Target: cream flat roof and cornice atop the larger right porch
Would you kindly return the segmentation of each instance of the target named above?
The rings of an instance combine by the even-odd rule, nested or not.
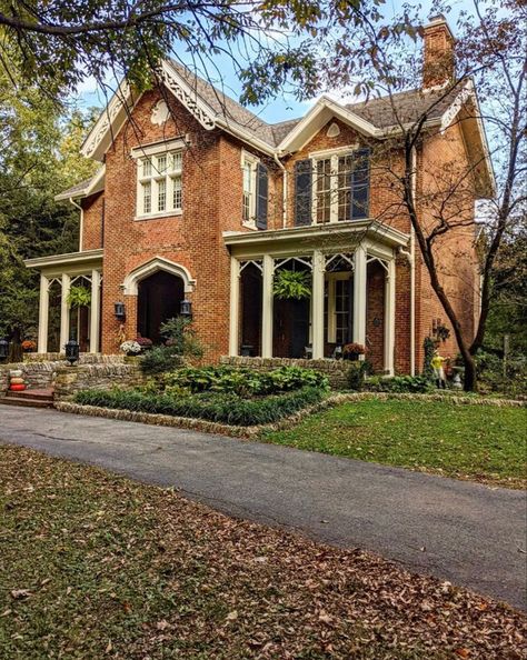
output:
[[[406,248],[410,237],[376,220],[266,231],[225,231],[223,240],[235,257],[300,254],[309,250],[332,252],[355,249],[359,243],[394,250]]]

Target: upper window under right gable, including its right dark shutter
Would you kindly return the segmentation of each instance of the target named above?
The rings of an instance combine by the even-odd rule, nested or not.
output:
[[[345,222],[368,217],[368,149],[314,154],[311,162],[312,222]]]

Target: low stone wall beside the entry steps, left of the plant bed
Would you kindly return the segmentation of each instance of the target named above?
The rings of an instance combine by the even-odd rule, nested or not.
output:
[[[112,387],[128,389],[145,382],[137,363],[60,366],[56,370],[54,399],[64,401],[79,390],[97,388],[109,390]]]

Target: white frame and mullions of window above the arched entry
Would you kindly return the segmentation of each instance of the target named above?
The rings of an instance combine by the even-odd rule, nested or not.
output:
[[[151,218],[167,218],[182,214],[182,177],[183,177],[183,147],[182,140],[172,140],[159,144],[150,144],[143,148],[132,149],[131,156],[137,166],[137,196],[136,196],[136,220],[148,220]],[[179,157],[179,158],[176,158]],[[158,159],[167,159],[163,171],[158,171]],[[143,177],[142,168],[146,161],[151,161],[150,174]],[[165,208],[159,210],[159,188],[165,181]],[[181,203],[175,206],[175,190],[177,183],[181,190]],[[145,213],[145,183],[150,182],[150,211]]]

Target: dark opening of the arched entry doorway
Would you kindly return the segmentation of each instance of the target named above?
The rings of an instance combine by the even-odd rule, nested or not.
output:
[[[165,321],[177,317],[185,299],[183,280],[159,270],[138,282],[137,330],[153,343],[161,343],[159,329]]]

